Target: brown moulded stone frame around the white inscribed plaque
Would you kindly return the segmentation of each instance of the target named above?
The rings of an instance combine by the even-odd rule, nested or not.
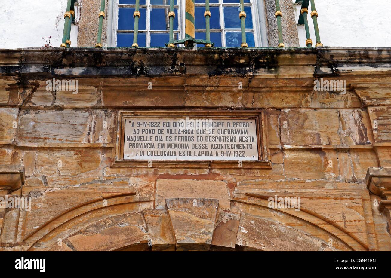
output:
[[[157,119],[254,119],[258,141],[258,160],[125,160],[124,133],[125,120],[129,118]],[[115,147],[112,154],[113,168],[211,168],[211,169],[271,169],[270,154],[267,144],[267,121],[264,110],[119,110],[117,113],[117,128]],[[151,162],[152,161],[152,167]]]

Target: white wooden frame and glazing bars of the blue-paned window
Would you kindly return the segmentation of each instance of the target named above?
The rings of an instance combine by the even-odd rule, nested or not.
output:
[[[250,3],[244,3],[244,6],[251,6],[251,16],[253,18],[253,28],[246,29],[246,32],[253,32],[255,47],[267,47],[266,37],[266,18],[265,18],[265,7],[264,0],[250,0]],[[223,7],[239,7],[239,3],[223,3],[223,0],[219,0],[219,3],[210,3],[210,7],[219,7],[220,16],[220,29],[210,29],[210,32],[221,32],[221,47],[226,47],[226,32],[240,32],[240,28],[225,28],[224,25],[224,13]],[[204,7],[205,4],[195,4],[195,7]],[[118,31],[118,7],[135,7],[134,4],[119,4],[119,0],[109,0],[108,3],[108,14],[112,14],[111,20],[107,21],[106,26],[106,46],[117,46],[117,31]],[[152,5],[150,0],[146,0],[145,5],[140,5],[140,8],[146,8],[146,30],[138,31],[139,33],[146,33],[146,46],[150,47],[151,43],[151,32],[152,33],[169,33],[169,30],[150,30],[150,9]],[[153,5],[153,8],[169,8],[169,5]],[[185,0],[178,0],[178,5],[174,5],[174,8],[178,9],[178,30],[174,30],[174,33],[179,34],[179,39],[185,37]],[[263,12],[262,12],[263,11]],[[213,14],[212,14],[213,17]],[[238,11],[239,17],[239,11]],[[109,19],[109,18],[108,18]],[[256,20],[258,19],[258,20]],[[177,20],[176,18],[174,20]],[[181,23],[181,24],[180,24]],[[262,24],[261,24],[262,23]],[[195,32],[204,32],[205,29],[195,29]],[[120,32],[133,33],[133,30],[120,30]],[[168,41],[167,41],[168,42]],[[239,47],[240,45],[238,45]]]

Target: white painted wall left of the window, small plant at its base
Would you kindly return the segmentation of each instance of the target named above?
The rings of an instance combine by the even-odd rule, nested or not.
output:
[[[42,37],[51,36],[52,46],[61,45],[67,0],[2,1],[0,48],[42,47]],[[79,9],[75,7],[78,21]],[[72,24],[70,40],[77,43],[77,25]]]

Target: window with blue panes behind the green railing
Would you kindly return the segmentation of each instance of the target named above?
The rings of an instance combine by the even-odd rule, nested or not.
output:
[[[262,0],[260,0],[262,1]],[[239,0],[210,0],[210,40],[215,47],[239,47],[242,42]],[[113,0],[111,45],[131,46],[136,0]],[[205,1],[195,0],[195,39],[205,39]],[[165,46],[169,41],[170,0],[140,0],[139,46]],[[257,0],[244,0],[246,42],[249,47],[261,46]],[[174,40],[185,37],[185,0],[174,0]],[[203,45],[199,45],[203,46]]]

